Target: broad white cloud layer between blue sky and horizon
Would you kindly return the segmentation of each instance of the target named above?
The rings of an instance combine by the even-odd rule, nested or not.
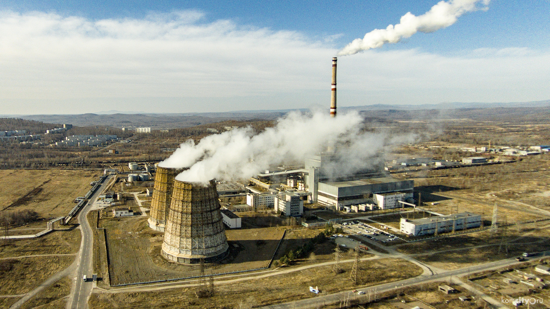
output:
[[[327,105],[333,39],[201,12],[87,20],[0,13],[2,114],[278,109]],[[550,54],[419,50],[340,58],[339,105],[550,98]]]

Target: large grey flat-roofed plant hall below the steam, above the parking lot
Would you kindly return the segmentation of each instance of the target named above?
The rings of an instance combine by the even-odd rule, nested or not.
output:
[[[357,205],[372,200],[373,194],[400,192],[412,198],[414,181],[395,177],[377,177],[352,181],[319,182],[317,199],[326,205]]]

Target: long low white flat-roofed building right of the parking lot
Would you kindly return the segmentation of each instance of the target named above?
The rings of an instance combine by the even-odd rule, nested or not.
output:
[[[421,219],[401,218],[400,231],[412,236],[430,235],[444,232],[460,231],[481,226],[481,216],[471,212],[461,212],[445,216]]]

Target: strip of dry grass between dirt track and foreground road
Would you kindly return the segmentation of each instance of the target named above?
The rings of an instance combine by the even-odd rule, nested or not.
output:
[[[353,263],[343,263],[343,273],[334,274],[331,266],[321,266],[303,271],[216,287],[216,304],[227,308],[265,306],[296,299],[314,297],[310,285],[318,286],[323,293],[334,293],[355,286],[349,280]],[[397,259],[381,259],[360,262],[358,278],[361,285],[375,285],[418,276],[422,269]],[[326,278],[331,278],[327,280]],[[207,299],[197,299],[195,288],[172,289],[148,293],[92,294],[90,308],[209,308]]]

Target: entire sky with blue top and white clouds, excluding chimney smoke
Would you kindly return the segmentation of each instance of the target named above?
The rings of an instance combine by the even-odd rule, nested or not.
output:
[[[436,3],[0,0],[2,114],[324,106],[337,50]],[[550,99],[549,17],[548,0],[493,0],[340,57],[339,105]]]

